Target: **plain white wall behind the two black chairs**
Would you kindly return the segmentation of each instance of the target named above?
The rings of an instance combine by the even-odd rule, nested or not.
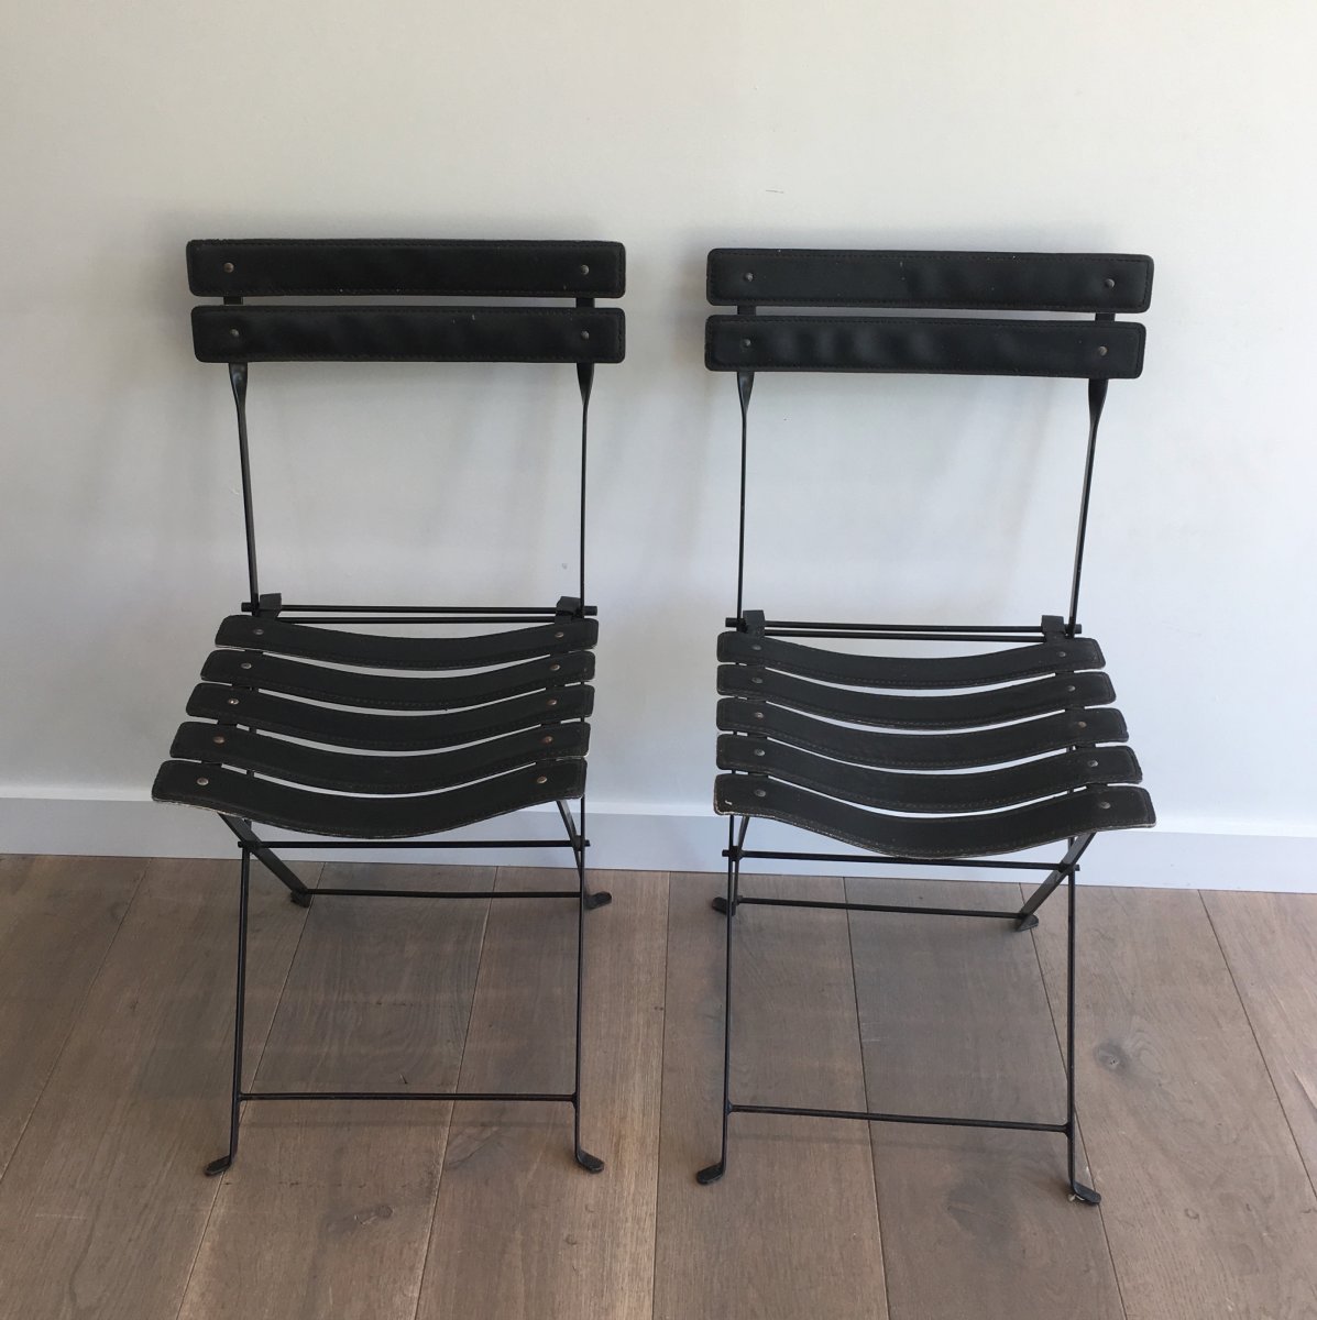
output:
[[[591,791],[673,820],[706,814],[735,573],[707,248],[1152,253],[1147,371],[1111,391],[1082,615],[1169,832],[1317,834],[1314,41],[1317,9],[1280,0],[18,0],[0,53],[0,849],[119,846],[103,821],[145,796],[243,597],[231,405],[191,358],[183,243],[277,235],[627,244],[628,360],[600,371],[593,414]],[[327,389],[253,370],[265,589],[441,601],[482,565],[480,595],[566,589],[571,374],[480,375],[496,409],[450,368],[343,368]],[[765,376],[754,421],[748,603],[1064,609],[1082,384]],[[504,506],[509,467],[537,494]],[[802,490],[818,516],[769,533]],[[509,539],[486,565],[495,507]],[[837,557],[819,591],[812,565]],[[129,850],[182,847],[178,816],[133,808]],[[676,857],[636,851],[619,859]]]

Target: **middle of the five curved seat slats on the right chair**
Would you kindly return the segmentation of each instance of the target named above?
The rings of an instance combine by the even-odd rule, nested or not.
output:
[[[889,770],[975,770],[1087,743],[1126,741],[1124,717],[1111,706],[971,733],[888,734],[724,697],[718,702],[718,727],[724,733],[765,734],[835,760]]]

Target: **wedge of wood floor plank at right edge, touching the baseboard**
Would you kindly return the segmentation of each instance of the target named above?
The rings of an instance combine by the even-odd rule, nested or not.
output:
[[[1317,1184],[1317,894],[1204,894],[1289,1130]]]

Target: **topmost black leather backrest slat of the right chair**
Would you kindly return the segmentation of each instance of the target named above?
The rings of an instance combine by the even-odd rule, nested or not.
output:
[[[1079,252],[714,248],[717,306],[1145,312],[1152,259]]]

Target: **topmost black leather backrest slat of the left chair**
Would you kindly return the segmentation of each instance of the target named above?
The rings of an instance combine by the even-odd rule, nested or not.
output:
[[[619,298],[620,243],[446,239],[194,239],[199,297]]]

